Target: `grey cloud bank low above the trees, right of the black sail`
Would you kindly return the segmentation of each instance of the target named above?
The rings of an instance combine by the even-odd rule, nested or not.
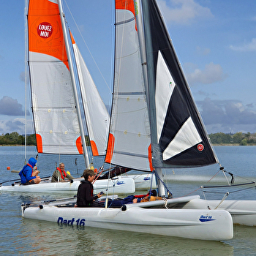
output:
[[[209,133],[256,130],[256,109],[252,104],[243,105],[238,100],[206,98],[198,101],[197,106]]]

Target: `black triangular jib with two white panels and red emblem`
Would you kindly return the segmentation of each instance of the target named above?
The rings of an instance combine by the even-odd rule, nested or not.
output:
[[[153,165],[196,167],[214,164],[218,159],[209,142],[156,1],[142,0],[142,10],[148,75],[146,95],[151,124]],[[165,67],[164,73],[170,73],[170,88],[174,84],[170,99],[165,104],[165,115],[162,115],[161,125],[158,125],[159,105],[156,103],[161,93],[164,94],[164,91],[161,91],[162,85],[157,85],[157,76],[162,76],[162,72],[159,72],[159,63]],[[162,102],[159,102],[161,105]]]

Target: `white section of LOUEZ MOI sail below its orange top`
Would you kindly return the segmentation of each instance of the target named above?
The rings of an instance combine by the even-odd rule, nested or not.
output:
[[[53,56],[29,53],[35,130],[42,153],[79,154],[80,136],[70,73]]]

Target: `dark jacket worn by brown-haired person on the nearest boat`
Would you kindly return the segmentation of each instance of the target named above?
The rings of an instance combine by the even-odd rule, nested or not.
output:
[[[78,207],[92,206],[94,203],[94,200],[97,198],[98,196],[94,195],[94,187],[92,186],[91,182],[81,181],[81,184],[78,187],[78,195],[77,195]]]

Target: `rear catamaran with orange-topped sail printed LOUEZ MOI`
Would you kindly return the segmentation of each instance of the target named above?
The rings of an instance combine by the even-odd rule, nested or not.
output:
[[[27,17],[31,106],[37,151],[39,154],[83,154],[86,167],[89,167],[83,118],[93,156],[104,156],[110,118],[108,110],[75,39],[70,32],[69,44],[69,34],[62,29],[64,23],[61,24],[58,1],[29,1]],[[75,63],[72,63],[71,48]],[[78,70],[78,80],[74,67]],[[83,108],[80,108],[77,84]],[[29,186],[15,182],[0,186],[0,191],[76,193],[80,180],[52,183],[50,178],[45,178],[39,184]],[[132,193],[135,192],[135,181],[131,177],[101,179],[94,183],[94,189],[95,192],[108,191],[108,194]]]

